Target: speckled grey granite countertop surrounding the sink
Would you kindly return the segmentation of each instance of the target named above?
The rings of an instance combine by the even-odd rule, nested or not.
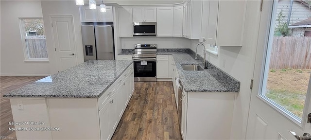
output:
[[[190,54],[173,54],[173,58],[185,91],[239,92],[240,82],[215,66],[208,63],[208,69],[205,70],[183,70],[181,64],[199,64],[202,67],[203,63],[200,59],[195,60]]]

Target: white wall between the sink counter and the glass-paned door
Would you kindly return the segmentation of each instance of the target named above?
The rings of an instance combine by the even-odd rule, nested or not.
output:
[[[231,127],[231,138],[245,139],[250,104],[250,80],[253,77],[255,51],[259,30],[260,0],[247,1],[246,21],[242,47],[218,47],[218,56],[207,53],[207,61],[241,82],[240,92],[235,100]],[[197,40],[191,41],[190,49],[195,51]],[[200,49],[201,50],[201,49]],[[201,52],[200,52],[201,53]],[[225,62],[225,64],[224,64]],[[225,66],[225,67],[224,67]]]

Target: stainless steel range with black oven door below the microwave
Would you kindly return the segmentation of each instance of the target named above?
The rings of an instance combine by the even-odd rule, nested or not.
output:
[[[156,82],[156,44],[135,44],[135,82]]]

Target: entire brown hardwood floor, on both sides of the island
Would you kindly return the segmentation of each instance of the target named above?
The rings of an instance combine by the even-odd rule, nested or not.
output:
[[[10,100],[2,95],[41,78],[0,77],[0,136],[16,140],[15,131],[8,130],[13,121]],[[135,83],[112,140],[182,140],[172,82]]]

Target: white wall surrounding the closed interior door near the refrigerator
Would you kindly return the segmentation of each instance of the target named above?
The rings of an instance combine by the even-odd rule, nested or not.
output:
[[[52,27],[51,27],[51,15],[73,15],[74,30],[75,30],[75,42],[76,42],[76,57],[78,64],[84,62],[83,56],[83,45],[81,35],[81,20],[79,13],[79,6],[75,4],[74,0],[42,0],[42,14],[45,26],[45,34],[47,40],[47,47],[50,57],[50,69],[51,73],[54,74],[56,70],[56,57],[52,39]]]

